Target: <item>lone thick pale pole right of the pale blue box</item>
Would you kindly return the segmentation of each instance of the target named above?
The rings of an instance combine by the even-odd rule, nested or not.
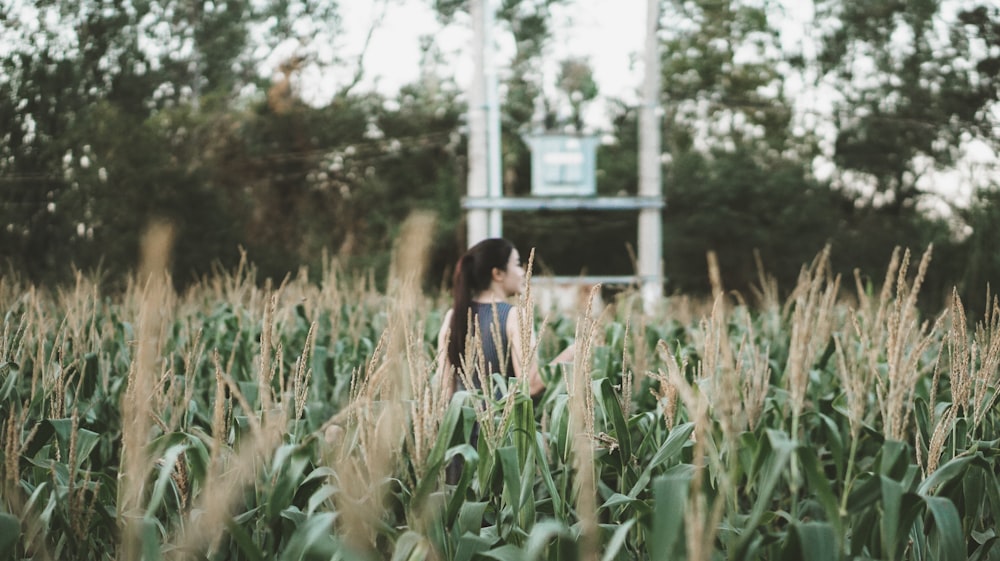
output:
[[[660,2],[646,3],[645,79],[639,111],[639,196],[662,197],[660,174]],[[663,298],[663,223],[661,209],[639,211],[639,280],[646,313]]]

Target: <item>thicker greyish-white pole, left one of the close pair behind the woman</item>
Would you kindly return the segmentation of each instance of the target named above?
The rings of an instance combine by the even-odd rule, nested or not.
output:
[[[469,198],[487,195],[487,140],[485,114],[484,76],[486,61],[484,6],[486,0],[471,0],[473,74],[469,84],[469,177],[466,193]],[[488,215],[484,209],[466,212],[467,240],[469,247],[489,236]]]

